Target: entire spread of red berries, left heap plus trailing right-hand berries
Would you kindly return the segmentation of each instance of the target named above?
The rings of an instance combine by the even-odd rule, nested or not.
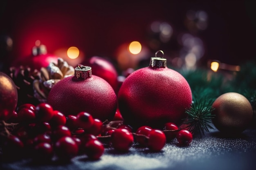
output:
[[[66,117],[47,103],[23,104],[8,122],[16,123],[16,127],[0,142],[3,154],[40,161],[70,160],[83,154],[99,159],[106,147],[126,152],[135,141],[153,152],[162,150],[166,141],[175,137],[181,145],[192,141],[189,131],[179,130],[173,123],[166,123],[163,130],[141,126],[133,132],[123,124],[118,110],[112,121],[102,122],[86,112]]]

